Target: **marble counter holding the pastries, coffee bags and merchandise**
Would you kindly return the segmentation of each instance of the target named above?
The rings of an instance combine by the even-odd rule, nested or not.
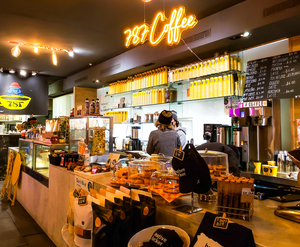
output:
[[[61,229],[67,221],[69,205],[69,190],[75,189],[74,176],[80,176],[94,183],[94,189],[106,188],[112,174],[100,176],[87,176],[67,171],[66,168],[50,165],[49,188],[39,183],[27,174],[22,173],[17,199],[29,214],[37,221],[45,233],[58,247],[67,244],[61,235]],[[30,181],[29,181],[30,180]],[[156,224],[169,224],[185,230],[191,238],[196,233],[205,212],[216,210],[216,203],[200,202],[194,196],[194,206],[203,208],[202,211],[186,215],[172,210],[176,206],[191,203],[191,196],[177,198],[173,203],[167,203],[160,196],[153,196],[156,201]],[[285,203],[295,206],[299,202]],[[175,205],[177,204],[177,205]],[[280,218],[274,214],[275,209],[267,206],[277,206],[278,202],[272,200],[254,200],[254,212],[251,222],[232,220],[238,224],[252,229],[254,240],[260,247],[299,246],[299,223]]]

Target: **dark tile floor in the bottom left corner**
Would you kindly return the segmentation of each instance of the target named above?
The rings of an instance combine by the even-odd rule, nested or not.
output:
[[[0,190],[4,181],[0,181]],[[6,194],[7,196],[7,194]],[[15,200],[0,199],[0,247],[55,247],[35,220]]]

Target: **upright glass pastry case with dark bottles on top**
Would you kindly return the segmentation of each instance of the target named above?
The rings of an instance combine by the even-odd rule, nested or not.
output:
[[[81,141],[88,145],[88,150],[91,153],[90,163],[106,162],[109,153],[113,152],[113,117],[71,117],[69,124],[70,152],[78,152],[78,142]],[[100,153],[95,153],[93,150],[94,137],[97,136],[97,132],[102,135],[101,141],[103,141],[103,144],[100,144],[100,146],[102,146]],[[99,145],[99,143],[97,145]]]

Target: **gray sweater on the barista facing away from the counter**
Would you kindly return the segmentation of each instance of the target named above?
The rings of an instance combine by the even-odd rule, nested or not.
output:
[[[148,140],[147,153],[149,155],[162,153],[172,157],[174,149],[180,148],[180,138],[175,130],[151,131]]]

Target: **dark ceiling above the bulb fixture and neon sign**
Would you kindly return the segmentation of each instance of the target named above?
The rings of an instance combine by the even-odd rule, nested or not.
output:
[[[242,0],[152,0],[145,3],[146,23],[165,10],[170,16],[174,8],[184,6],[186,14],[198,20],[229,8]],[[126,52],[124,31],[143,23],[142,0],[65,0],[2,1],[0,14],[0,68],[25,69],[41,74],[68,77]],[[51,51],[20,46],[21,54],[13,57],[10,50],[18,41],[29,44],[74,50],[74,56],[56,52],[54,66]],[[89,63],[92,65],[90,66]],[[50,82],[49,82],[50,83]]]

